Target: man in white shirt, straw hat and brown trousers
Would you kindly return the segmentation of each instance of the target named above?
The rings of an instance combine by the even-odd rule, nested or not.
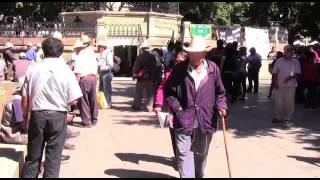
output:
[[[91,39],[83,35],[80,39],[86,47],[76,57],[74,73],[82,90],[80,116],[84,127],[91,128],[98,121],[97,78],[98,61],[91,44]]]

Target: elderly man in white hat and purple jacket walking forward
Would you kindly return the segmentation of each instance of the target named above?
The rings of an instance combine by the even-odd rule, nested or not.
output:
[[[226,91],[217,65],[204,59],[205,40],[194,37],[185,50],[189,58],[172,70],[165,96],[174,117],[180,177],[202,178],[217,115],[227,114]]]

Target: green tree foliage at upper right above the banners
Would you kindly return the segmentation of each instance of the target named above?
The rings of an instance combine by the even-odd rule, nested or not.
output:
[[[205,7],[205,8],[203,8]],[[278,21],[291,34],[320,38],[320,2],[182,2],[183,20],[268,27]]]

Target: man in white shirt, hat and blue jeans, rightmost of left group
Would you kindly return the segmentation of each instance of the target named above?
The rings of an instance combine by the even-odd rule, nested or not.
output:
[[[113,67],[113,50],[110,45],[105,41],[100,41],[98,43],[98,52],[99,52],[99,90],[104,92],[104,96],[107,102],[107,109],[111,108],[111,94],[112,86],[111,81],[113,78],[112,67]]]

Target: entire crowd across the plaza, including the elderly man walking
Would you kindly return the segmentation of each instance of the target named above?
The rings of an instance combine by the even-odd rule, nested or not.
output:
[[[82,126],[93,128],[99,122],[99,91],[103,92],[105,108],[112,108],[113,73],[121,62],[112,45],[98,41],[96,54],[92,39],[82,35],[74,44],[71,59],[65,61],[61,38],[61,34],[47,38],[37,49],[28,43],[19,58],[13,55],[11,43],[3,52],[3,78],[21,82],[22,87],[4,109],[0,135],[8,143],[28,144],[22,177],[37,177],[43,159],[43,176],[58,177],[62,149],[74,149],[65,140],[79,135],[67,126],[73,123],[75,110],[79,110]],[[303,99],[308,109],[316,107],[319,49],[318,45],[287,45],[283,52],[272,49],[269,53],[269,97],[275,92],[273,123],[291,120],[295,98]],[[132,68],[136,80],[132,109],[167,112],[180,177],[205,176],[218,117],[227,116],[228,103],[244,101],[247,93],[259,92],[261,66],[255,47],[250,47],[247,55],[247,47],[238,47],[237,42],[224,46],[218,40],[217,47],[207,49],[202,37],[194,37],[190,43],[169,41],[167,46],[152,50],[147,40],[140,46]],[[144,90],[147,102],[142,107]]]

